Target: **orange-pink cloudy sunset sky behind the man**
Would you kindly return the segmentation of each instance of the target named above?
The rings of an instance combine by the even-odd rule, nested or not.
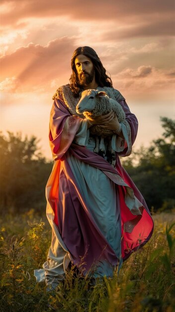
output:
[[[175,1],[1,0],[0,130],[35,135],[43,154],[56,89],[91,46],[139,120],[135,148],[175,119]]]

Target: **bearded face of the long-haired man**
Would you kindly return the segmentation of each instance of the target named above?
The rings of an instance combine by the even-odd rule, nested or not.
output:
[[[75,59],[75,65],[78,73],[79,84],[81,86],[88,86],[95,76],[91,59],[83,54],[80,54]]]

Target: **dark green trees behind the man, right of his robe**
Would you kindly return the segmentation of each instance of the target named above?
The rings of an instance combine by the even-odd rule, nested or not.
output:
[[[154,211],[175,208],[175,121],[161,118],[163,138],[133,152],[122,162],[148,206]],[[137,164],[135,165],[135,161]]]

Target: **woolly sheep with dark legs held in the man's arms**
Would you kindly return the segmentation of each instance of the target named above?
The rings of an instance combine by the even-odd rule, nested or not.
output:
[[[94,89],[83,91],[81,99],[76,106],[76,112],[78,114],[83,114],[87,120],[89,119],[89,121],[92,116],[106,115],[111,111],[116,114],[119,122],[125,121],[125,113],[121,105],[117,101],[110,99],[106,92]],[[99,153],[98,136],[101,137],[103,146],[104,138],[110,136],[108,153],[111,154],[112,159],[114,160],[115,152],[111,151],[111,136],[114,135],[113,131],[101,128],[99,125],[95,125],[90,128],[90,133],[96,136],[96,146],[94,152],[97,154]],[[101,150],[100,152],[104,155],[104,150]]]

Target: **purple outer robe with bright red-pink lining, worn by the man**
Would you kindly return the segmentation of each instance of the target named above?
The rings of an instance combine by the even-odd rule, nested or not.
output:
[[[137,119],[124,100],[119,103],[130,125],[133,144],[138,130]],[[117,154],[115,168],[112,167],[101,156],[73,142],[81,120],[80,117],[70,114],[63,100],[55,99],[51,110],[49,133],[55,163],[46,186],[46,197],[49,207],[47,216],[53,231],[55,228],[58,229],[64,247],[66,246],[68,250],[69,259],[74,264],[79,265],[81,257],[85,257],[83,268],[87,272],[94,259],[105,259],[113,266],[118,264],[119,259],[89,213],[86,199],[82,197],[67,161],[67,151],[80,161],[98,168],[115,183],[115,196],[121,214],[123,260],[148,242],[153,233],[153,220],[143,196],[121,166],[118,154],[125,156],[127,146]]]

